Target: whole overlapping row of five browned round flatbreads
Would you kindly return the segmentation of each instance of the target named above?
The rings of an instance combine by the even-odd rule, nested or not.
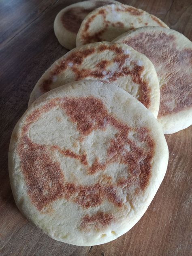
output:
[[[164,134],[192,124],[192,43],[113,0],[66,7],[54,31],[70,51],[38,80],[13,130],[11,188],[53,239],[107,243],[154,198],[168,163]]]

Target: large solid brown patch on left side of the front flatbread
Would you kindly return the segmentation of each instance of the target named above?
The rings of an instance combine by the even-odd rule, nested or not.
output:
[[[35,207],[41,210],[61,198],[64,193],[64,175],[60,164],[51,161],[46,147],[32,143],[24,135],[18,151],[28,194]]]

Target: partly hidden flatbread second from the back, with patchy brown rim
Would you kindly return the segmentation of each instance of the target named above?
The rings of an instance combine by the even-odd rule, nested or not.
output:
[[[156,16],[126,4],[102,6],[85,17],[77,33],[76,45],[111,42],[128,30],[144,26],[169,28]]]

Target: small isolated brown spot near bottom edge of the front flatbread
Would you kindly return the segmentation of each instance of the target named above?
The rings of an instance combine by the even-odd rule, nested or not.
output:
[[[113,220],[111,213],[103,213],[98,211],[94,215],[85,215],[82,219],[80,228],[83,230],[90,230],[92,226],[95,230],[101,230],[105,226],[109,226]]]

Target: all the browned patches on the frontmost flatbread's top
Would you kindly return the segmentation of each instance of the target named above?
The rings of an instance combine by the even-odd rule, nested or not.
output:
[[[87,162],[86,152],[76,154],[72,150],[61,149],[58,145],[52,145],[51,149],[48,149],[46,145],[32,142],[28,137],[30,127],[43,113],[54,107],[63,109],[70,121],[77,125],[77,130],[81,134],[81,141],[86,139],[86,136],[93,130],[105,130],[107,125],[111,125],[117,130],[116,137],[110,141],[107,150],[108,157],[105,162],[101,163],[96,158],[90,166]],[[147,147],[139,148],[133,140],[129,139],[130,131],[137,132],[138,139],[147,143]],[[130,151],[126,149],[126,145],[130,146]],[[55,98],[40,109],[34,110],[26,118],[17,151],[21,159],[21,170],[30,200],[39,211],[45,211],[45,207],[60,198],[77,203],[83,208],[96,207],[105,200],[118,208],[123,207],[124,203],[118,195],[117,188],[120,187],[125,193],[128,193],[127,188],[132,184],[136,186],[135,194],[145,190],[151,177],[151,160],[154,156],[154,148],[154,140],[147,128],[142,127],[136,130],[130,128],[109,114],[102,100],[89,96]],[[78,185],[75,182],[69,183],[65,180],[60,163],[52,160],[52,151],[58,151],[64,157],[75,158],[84,166],[87,175],[103,172],[109,164],[121,162],[128,166],[131,177],[129,179],[121,177],[116,183],[112,183],[110,177],[103,175],[102,183],[98,182],[90,186]],[[108,218],[107,214],[99,212],[93,216],[85,215],[81,228],[84,229],[87,224],[92,222],[95,223],[96,229],[109,224],[113,217],[110,215]]]

